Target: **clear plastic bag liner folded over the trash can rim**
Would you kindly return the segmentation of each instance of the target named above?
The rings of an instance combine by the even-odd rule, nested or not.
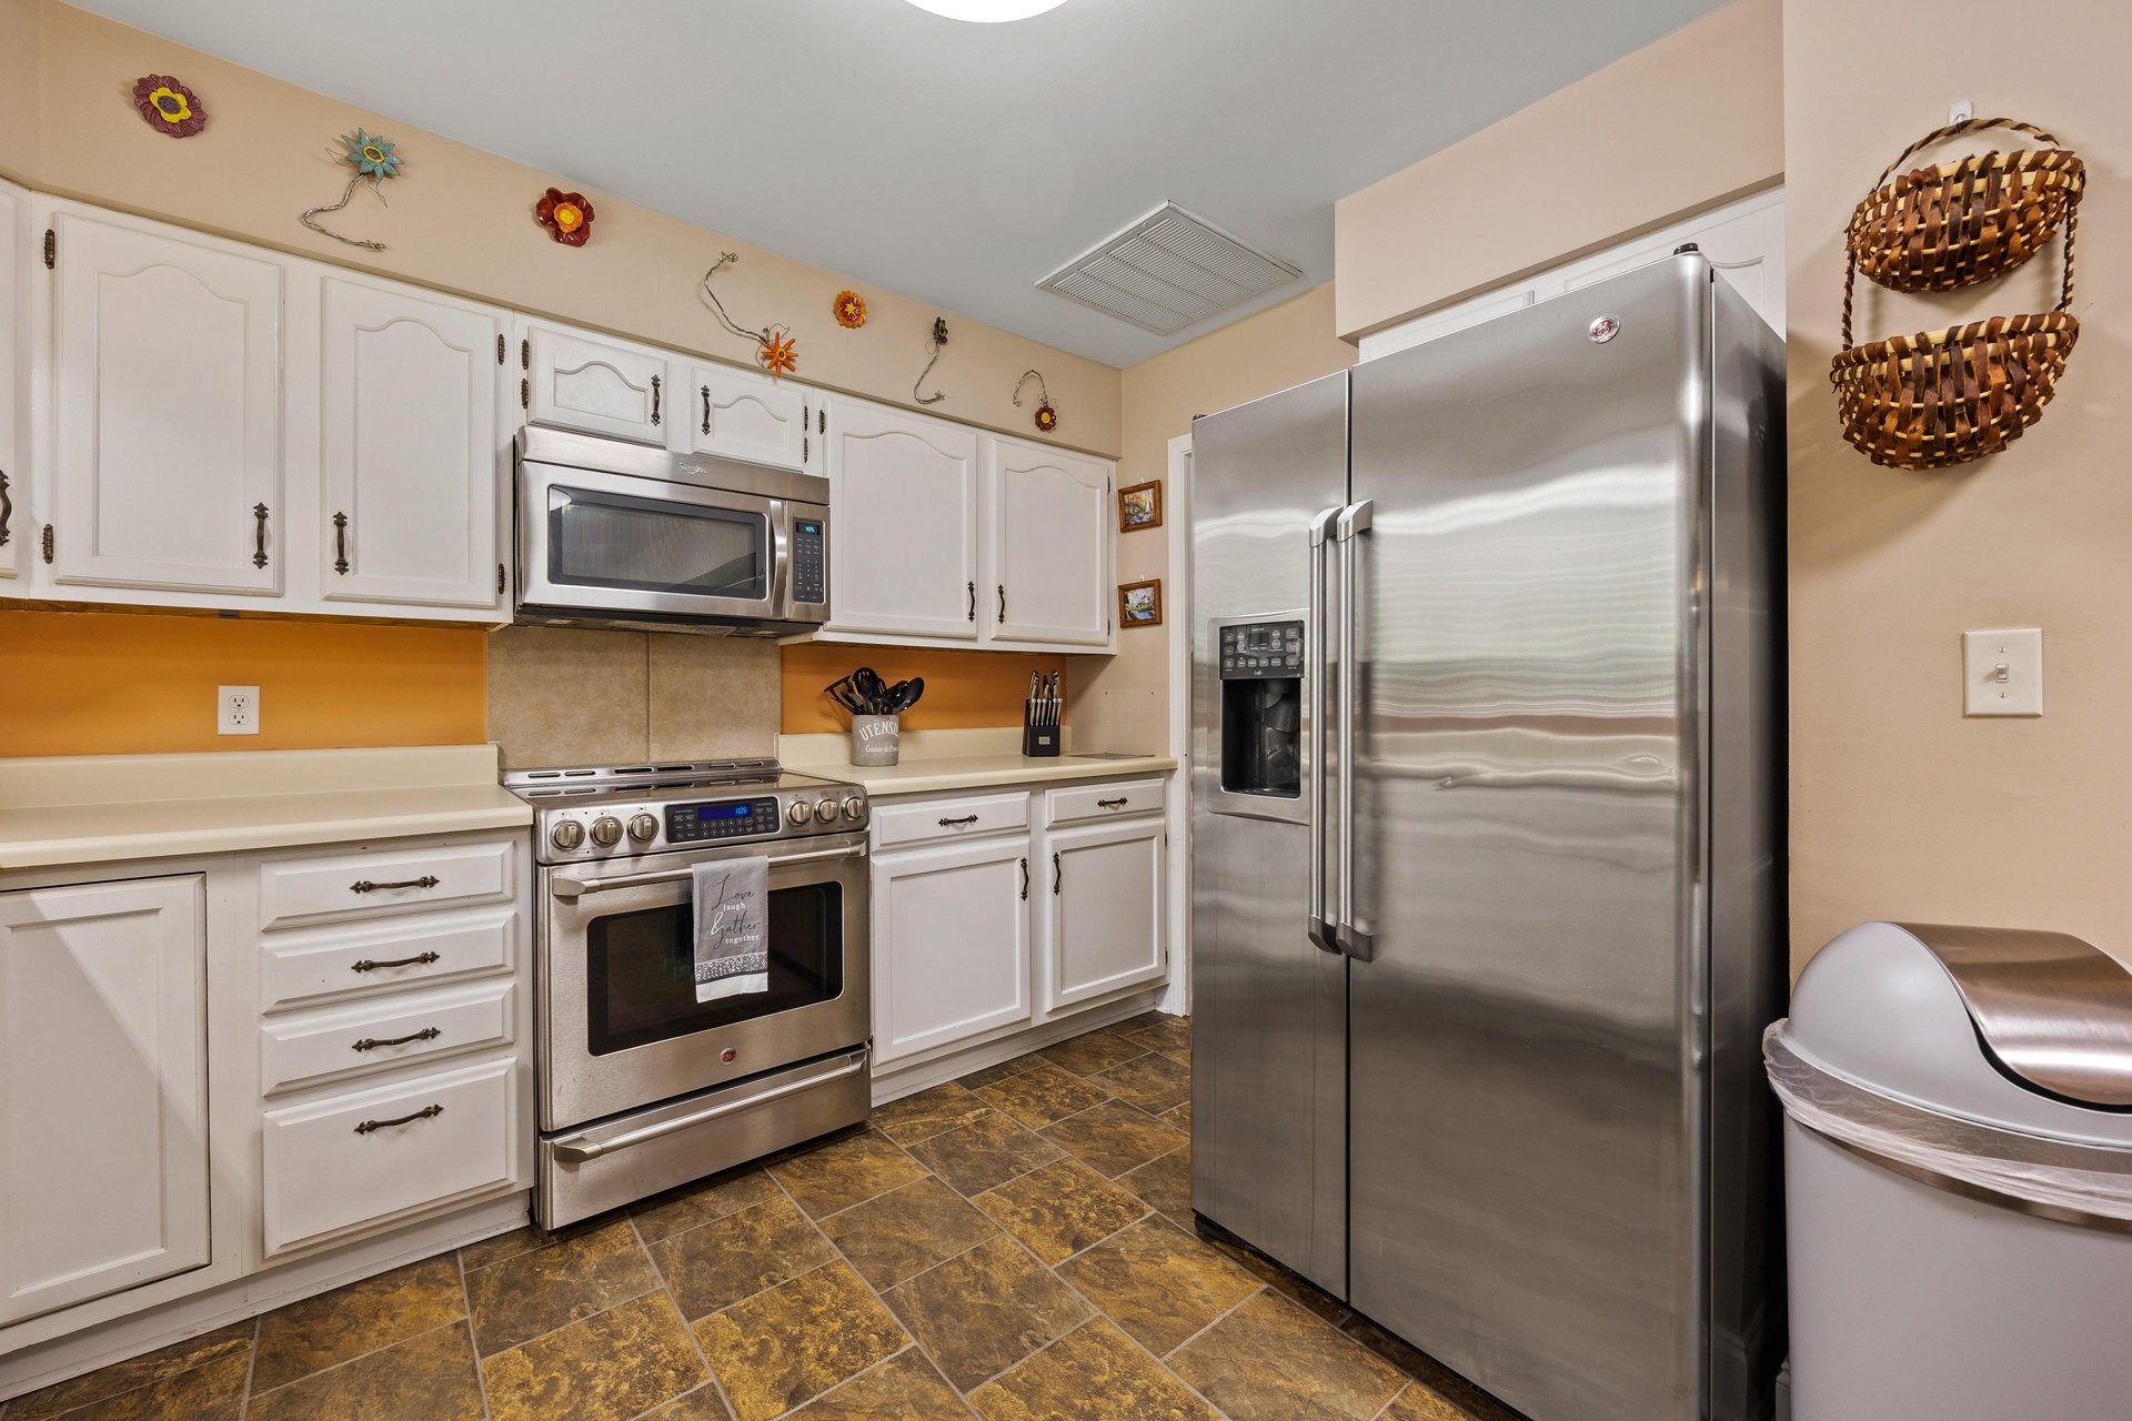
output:
[[[1802,1055],[1772,1023],[1770,1087],[1793,1121],[1929,1185],[2132,1229],[2132,1148],[2051,1140],[1891,1099]]]

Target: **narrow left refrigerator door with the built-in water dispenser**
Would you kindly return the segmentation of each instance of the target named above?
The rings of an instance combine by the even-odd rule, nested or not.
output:
[[[1192,428],[1192,1206],[1332,1293],[1347,965],[1307,935],[1309,797],[1222,790],[1217,626],[1309,607],[1309,526],[1345,492],[1345,375]],[[1305,709],[1305,786],[1313,726]]]

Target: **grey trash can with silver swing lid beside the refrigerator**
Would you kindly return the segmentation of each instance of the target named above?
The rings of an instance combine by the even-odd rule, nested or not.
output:
[[[1793,1421],[2132,1417],[2132,971],[1868,922],[1763,1038]]]

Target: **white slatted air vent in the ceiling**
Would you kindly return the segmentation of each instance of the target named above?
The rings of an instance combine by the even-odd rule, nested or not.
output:
[[[1164,202],[1036,285],[1141,330],[1175,334],[1301,275],[1205,217]]]

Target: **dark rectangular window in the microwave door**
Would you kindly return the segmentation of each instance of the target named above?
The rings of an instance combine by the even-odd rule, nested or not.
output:
[[[591,488],[550,488],[548,582],[765,601],[770,518]]]

